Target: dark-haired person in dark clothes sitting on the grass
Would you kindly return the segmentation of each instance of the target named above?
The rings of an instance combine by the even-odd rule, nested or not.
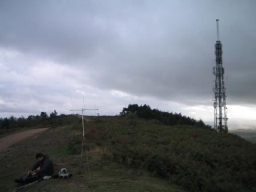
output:
[[[35,155],[35,158],[37,159],[37,163],[27,172],[27,175],[22,175],[20,179],[15,179],[15,182],[33,182],[45,176],[53,175],[54,166],[48,155],[38,153]]]

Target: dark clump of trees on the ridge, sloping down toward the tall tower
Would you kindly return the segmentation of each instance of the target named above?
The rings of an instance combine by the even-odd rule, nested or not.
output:
[[[194,118],[186,117],[181,113],[169,113],[158,109],[151,109],[149,105],[139,106],[138,104],[129,104],[128,107],[123,108],[120,115],[129,114],[137,115],[137,117],[143,119],[157,119],[165,125],[194,125],[211,128],[211,126],[206,125],[202,119],[197,121]]]

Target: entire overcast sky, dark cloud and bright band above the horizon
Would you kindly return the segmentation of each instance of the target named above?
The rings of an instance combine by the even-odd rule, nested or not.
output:
[[[253,0],[0,0],[0,117],[69,113],[71,96],[79,108],[84,96],[99,114],[147,103],[211,121],[218,18],[229,122],[254,123],[255,7]]]

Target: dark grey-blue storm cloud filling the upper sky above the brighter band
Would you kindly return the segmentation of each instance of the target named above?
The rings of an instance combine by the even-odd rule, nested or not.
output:
[[[256,104],[255,5],[1,1],[0,47],[77,67],[99,89],[209,105],[219,18],[227,101]]]

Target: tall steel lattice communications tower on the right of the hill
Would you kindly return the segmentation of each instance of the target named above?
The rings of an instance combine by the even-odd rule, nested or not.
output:
[[[226,88],[224,86],[224,68],[222,66],[222,44],[219,41],[219,19],[217,23],[217,41],[215,43],[215,63],[213,74],[215,75],[214,91],[214,129],[219,132],[227,133],[227,107],[226,107]]]

